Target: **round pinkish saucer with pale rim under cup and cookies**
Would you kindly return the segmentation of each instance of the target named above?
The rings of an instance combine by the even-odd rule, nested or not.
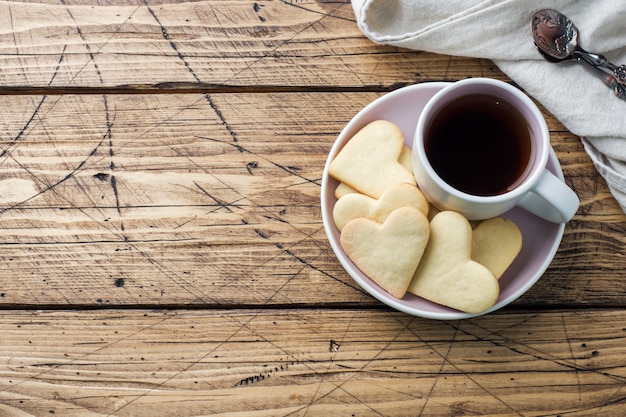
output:
[[[407,293],[402,299],[390,295],[370,278],[363,274],[348,258],[339,243],[339,230],[333,221],[333,207],[337,201],[335,188],[338,182],[328,174],[328,167],[346,142],[361,128],[374,120],[384,119],[395,123],[404,134],[404,143],[411,148],[413,134],[420,112],[432,96],[448,83],[432,82],[403,87],[386,94],[363,108],[345,126],[333,144],[322,177],[322,220],[331,247],[348,274],[370,295],[379,301],[415,316],[452,320],[475,317],[480,314],[467,314],[444,307],[413,294]],[[563,172],[554,151],[551,150],[547,168],[563,180]],[[481,314],[498,310],[524,294],[543,275],[550,265],[561,243],[565,224],[555,224],[536,217],[521,208],[514,208],[505,213],[514,221],[522,232],[522,249],[500,278],[500,297],[496,304]]]

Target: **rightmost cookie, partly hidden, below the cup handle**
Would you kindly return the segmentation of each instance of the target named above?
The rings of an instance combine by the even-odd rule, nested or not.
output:
[[[472,232],[472,259],[485,265],[498,279],[521,249],[522,233],[511,220],[485,220]]]

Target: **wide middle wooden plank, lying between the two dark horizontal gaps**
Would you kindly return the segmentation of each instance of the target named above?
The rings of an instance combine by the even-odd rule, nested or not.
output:
[[[0,96],[0,304],[375,304],[319,193],[336,135],[379,96]],[[581,215],[518,305],[625,305],[625,216],[547,117]]]

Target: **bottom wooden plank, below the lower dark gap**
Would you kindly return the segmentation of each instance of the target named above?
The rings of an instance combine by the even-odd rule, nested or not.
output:
[[[603,415],[623,310],[3,311],[6,416]]]

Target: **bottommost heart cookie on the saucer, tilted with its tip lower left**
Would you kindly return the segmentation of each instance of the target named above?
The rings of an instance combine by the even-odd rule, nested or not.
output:
[[[466,313],[482,313],[498,300],[496,277],[471,259],[472,228],[459,213],[442,211],[430,222],[430,239],[408,291]]]

